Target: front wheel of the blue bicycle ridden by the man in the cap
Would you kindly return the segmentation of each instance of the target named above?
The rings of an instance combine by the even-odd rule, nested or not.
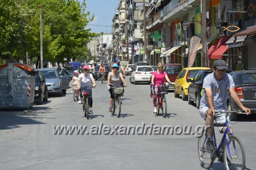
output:
[[[229,137],[229,150],[227,145],[224,147],[224,164],[226,170],[245,168],[245,152],[243,144],[240,139],[234,135]]]

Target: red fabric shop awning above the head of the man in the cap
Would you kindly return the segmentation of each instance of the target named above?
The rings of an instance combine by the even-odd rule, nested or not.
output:
[[[209,49],[208,49],[208,56],[209,56],[209,58],[215,58],[215,57],[217,57],[217,58],[215,58],[215,59],[219,59],[219,55],[217,55],[217,53],[216,53],[216,55],[217,56],[214,56],[214,57],[212,57],[212,54],[213,54],[213,52],[215,52],[217,49],[219,49],[221,46],[225,46],[227,49],[228,49],[228,47],[226,46],[226,42],[229,40],[231,38],[231,36],[225,36],[225,37],[220,37]],[[224,47],[223,47],[223,49],[224,49]],[[226,50],[227,50],[226,49]],[[225,51],[226,51],[225,50]],[[224,51],[224,52],[225,52]],[[223,53],[224,53],[223,52]],[[222,53],[222,54],[223,54]],[[222,55],[221,54],[221,55]]]

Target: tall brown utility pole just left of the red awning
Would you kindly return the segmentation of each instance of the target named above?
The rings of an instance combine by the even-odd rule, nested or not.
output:
[[[202,0],[202,10],[201,10],[201,16],[202,16],[202,66],[203,67],[209,67],[208,66],[208,54],[207,54],[207,39],[206,39],[206,0]]]

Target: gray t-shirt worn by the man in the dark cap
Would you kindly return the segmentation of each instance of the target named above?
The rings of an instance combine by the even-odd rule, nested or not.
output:
[[[215,110],[225,110],[227,103],[227,89],[235,86],[233,78],[230,74],[226,74],[221,80],[216,80],[214,77],[214,72],[208,74],[204,78],[203,89],[212,89],[212,100]],[[200,107],[209,107],[207,102],[207,96],[205,90],[203,90],[203,96],[201,98]]]

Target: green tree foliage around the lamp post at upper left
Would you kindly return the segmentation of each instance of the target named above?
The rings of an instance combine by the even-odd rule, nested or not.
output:
[[[86,60],[85,43],[103,33],[85,29],[94,18],[86,11],[85,0],[81,4],[76,0],[0,0],[0,58],[19,61],[27,51],[31,60],[39,61],[40,5],[44,6],[44,61]]]

